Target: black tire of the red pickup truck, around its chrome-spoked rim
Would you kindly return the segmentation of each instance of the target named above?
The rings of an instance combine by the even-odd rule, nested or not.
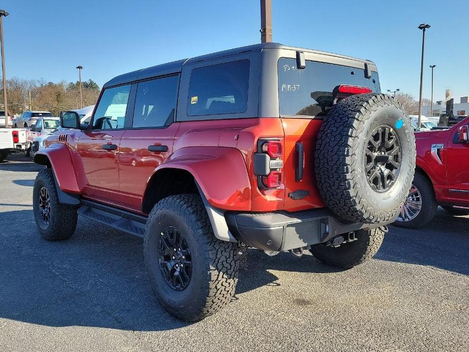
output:
[[[422,207],[417,216],[409,221],[400,221],[396,220],[393,225],[404,227],[408,229],[416,229],[428,224],[437,214],[438,202],[435,197],[435,192],[433,190],[433,185],[428,178],[423,175],[421,172],[415,172],[414,180],[412,181],[422,198]]]

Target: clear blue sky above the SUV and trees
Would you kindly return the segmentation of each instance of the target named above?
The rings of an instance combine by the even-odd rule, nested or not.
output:
[[[58,82],[82,78],[100,86],[119,74],[158,63],[260,42],[258,0],[7,0],[7,77]],[[381,88],[418,97],[422,32],[424,97],[452,89],[469,95],[469,1],[273,0],[273,40],[371,59]]]

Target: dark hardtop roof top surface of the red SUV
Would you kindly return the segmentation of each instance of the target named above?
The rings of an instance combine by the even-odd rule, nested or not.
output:
[[[350,56],[333,54],[333,53],[328,53],[328,52],[318,51],[318,50],[290,47],[290,46],[286,46],[280,43],[261,43],[261,44],[248,45],[248,46],[240,47],[240,48],[223,50],[223,51],[219,51],[216,53],[211,53],[211,54],[206,54],[206,55],[201,55],[201,56],[195,56],[189,59],[172,61],[172,62],[163,63],[163,64],[152,66],[152,67],[137,69],[136,71],[132,71],[132,72],[113,78],[109,82],[106,82],[103,88],[130,83],[130,82],[137,81],[137,80],[145,80],[145,79],[156,77],[156,76],[163,76],[163,75],[170,75],[170,74],[178,73],[178,72],[181,72],[183,66],[186,63],[203,61],[203,60],[213,59],[213,58],[222,57],[222,56],[240,54],[240,53],[244,53],[248,51],[260,51],[263,49],[287,49],[287,50],[295,50],[295,51],[304,51],[304,52],[310,52],[310,53],[316,53],[316,54],[322,54],[322,55],[328,55],[328,56],[334,56],[334,57],[342,57],[342,58],[347,58],[347,59],[351,59],[355,61],[373,63],[372,61],[369,61],[369,60],[362,60],[362,59],[357,59],[357,58],[350,57]]]

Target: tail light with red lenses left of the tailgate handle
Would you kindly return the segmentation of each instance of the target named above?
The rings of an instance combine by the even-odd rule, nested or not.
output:
[[[254,174],[260,189],[279,188],[282,184],[282,144],[280,140],[259,139],[254,153]]]

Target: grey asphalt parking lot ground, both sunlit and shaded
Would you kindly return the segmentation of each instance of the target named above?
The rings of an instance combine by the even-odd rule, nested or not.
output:
[[[469,217],[440,209],[419,230],[390,227],[373,260],[337,271],[310,255],[244,256],[236,296],[195,324],[160,306],[142,240],[80,219],[40,238],[38,165],[0,163],[0,350],[466,351]]]

